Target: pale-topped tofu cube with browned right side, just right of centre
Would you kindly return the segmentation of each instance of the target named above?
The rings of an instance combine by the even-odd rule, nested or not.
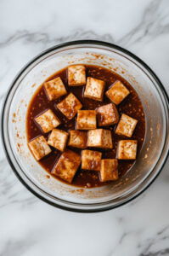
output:
[[[87,132],[87,147],[113,148],[111,131],[95,129]]]

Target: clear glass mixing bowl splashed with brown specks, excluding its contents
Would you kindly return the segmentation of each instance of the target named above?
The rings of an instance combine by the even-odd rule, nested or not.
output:
[[[110,68],[132,84],[144,105],[144,146],[132,169],[115,183],[81,189],[47,178],[31,155],[25,132],[26,110],[38,86],[51,74],[74,63]],[[2,137],[8,162],[34,195],[54,207],[74,212],[101,212],[131,201],[161,172],[169,148],[168,97],[155,73],[137,56],[114,44],[82,40],[59,44],[28,63],[14,79],[3,105]]]

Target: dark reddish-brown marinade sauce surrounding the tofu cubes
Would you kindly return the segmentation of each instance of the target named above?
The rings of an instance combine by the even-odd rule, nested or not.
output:
[[[120,75],[116,73],[112,73],[109,69],[104,67],[98,67],[93,65],[86,65],[86,73],[87,76],[93,77],[95,79],[102,79],[106,82],[105,90],[108,90],[111,84],[115,82],[115,80],[121,80],[121,82],[130,90],[130,95],[121,102],[119,106],[116,106],[118,112],[121,116],[121,113],[126,113],[127,115],[131,116],[134,119],[138,119],[138,125],[133,132],[132,139],[138,140],[138,153],[142,148],[144,143],[144,134],[145,134],[145,119],[144,119],[144,108],[142,103],[138,97],[136,91],[132,88],[132,85],[129,84],[125,79],[121,78]],[[84,86],[68,86],[67,83],[67,68],[60,70],[58,73],[54,73],[51,77],[47,80],[54,79],[56,77],[60,77],[65,84],[66,90],[68,93],[72,92],[79,100],[82,102],[82,109],[95,109],[99,106],[105,105],[110,103],[110,99],[104,95],[104,101],[98,102],[93,101],[91,99],[87,99],[83,97],[83,90]],[[45,90],[43,86],[40,86],[36,91],[35,95],[31,99],[31,103],[29,105],[26,117],[26,130],[27,130],[27,140],[28,142],[31,139],[43,135],[44,137],[48,138],[48,134],[43,134],[42,131],[37,127],[36,123],[34,122],[34,118],[39,114],[42,113],[44,110],[50,108],[56,113],[56,115],[61,120],[62,124],[59,125],[59,129],[69,131],[75,130],[76,125],[76,117],[74,119],[68,120],[65,116],[59,112],[56,108],[56,104],[63,100],[65,96],[60,97],[58,100],[54,100],[52,102],[48,101],[48,97],[46,96]],[[110,125],[109,129],[115,131],[116,125]],[[103,150],[97,148],[97,151],[102,152],[102,158],[115,158],[116,152],[116,145],[117,142],[121,139],[126,139],[127,137],[122,137],[119,135],[113,134],[113,144],[114,148],[109,150]],[[69,147],[70,148],[70,147]],[[81,154],[81,149],[79,148],[70,148],[77,153]],[[90,149],[90,148],[89,148]],[[93,149],[93,148],[91,148]],[[54,164],[59,159],[60,156],[59,150],[53,148],[52,153],[48,154],[42,160],[39,160],[40,165],[51,174]],[[121,177],[124,175],[133,165],[134,160],[119,160],[119,176]],[[51,174],[52,175],[52,174]],[[56,177],[59,178],[59,177]],[[61,180],[62,181],[62,180]],[[62,181],[64,182],[64,181]],[[110,183],[110,182],[109,182]],[[82,171],[81,168],[76,172],[76,176],[73,179],[72,185],[80,186],[80,187],[98,187],[104,185],[105,183],[101,183],[99,181],[99,172],[94,171]]]

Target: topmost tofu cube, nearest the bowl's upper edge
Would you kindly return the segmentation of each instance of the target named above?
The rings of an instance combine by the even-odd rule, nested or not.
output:
[[[70,86],[86,84],[86,70],[83,65],[68,67],[68,84]]]

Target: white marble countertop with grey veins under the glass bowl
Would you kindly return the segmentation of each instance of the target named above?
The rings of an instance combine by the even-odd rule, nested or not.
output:
[[[1,0],[0,104],[20,68],[54,44],[90,38],[142,58],[169,92],[168,0]],[[38,200],[0,148],[0,256],[169,255],[169,170],[110,212],[65,212]]]

